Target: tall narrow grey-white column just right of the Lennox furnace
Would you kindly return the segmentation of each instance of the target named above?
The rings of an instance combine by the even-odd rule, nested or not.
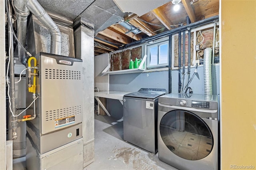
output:
[[[84,23],[86,25],[86,23]],[[94,161],[94,30],[79,26],[74,32],[76,58],[83,60],[84,167]]]

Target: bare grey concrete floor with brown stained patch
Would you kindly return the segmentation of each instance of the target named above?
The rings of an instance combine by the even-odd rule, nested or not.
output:
[[[123,140],[123,120],[95,115],[95,160],[84,170],[177,170]],[[26,158],[14,159],[13,170],[26,170]]]

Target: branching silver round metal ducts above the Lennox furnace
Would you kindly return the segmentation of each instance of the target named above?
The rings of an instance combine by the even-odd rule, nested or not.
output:
[[[44,8],[36,0],[14,0],[14,7],[18,13],[17,27],[18,40],[25,47],[26,30],[27,30],[27,16],[29,11],[34,14],[42,24],[50,31],[51,34],[51,53],[61,54],[61,33],[58,26],[46,13]],[[20,46],[20,45],[19,45]],[[19,60],[25,64],[25,53],[18,46]]]

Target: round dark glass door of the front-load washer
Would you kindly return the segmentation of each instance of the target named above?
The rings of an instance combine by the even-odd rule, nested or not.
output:
[[[210,128],[192,112],[174,110],[166,113],[159,130],[166,147],[181,158],[200,160],[212,151]]]

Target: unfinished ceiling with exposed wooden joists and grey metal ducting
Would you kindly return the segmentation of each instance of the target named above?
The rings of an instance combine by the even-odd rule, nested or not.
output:
[[[93,22],[95,55],[115,51],[125,44],[186,25],[187,16],[191,22],[196,22],[219,14],[219,0],[181,0],[177,12],[174,11],[174,4],[170,0],[126,0],[126,4],[136,6],[130,12],[122,12],[126,10],[122,8],[125,6],[118,3],[124,0],[114,1],[38,0],[46,11],[71,21],[82,16]]]

